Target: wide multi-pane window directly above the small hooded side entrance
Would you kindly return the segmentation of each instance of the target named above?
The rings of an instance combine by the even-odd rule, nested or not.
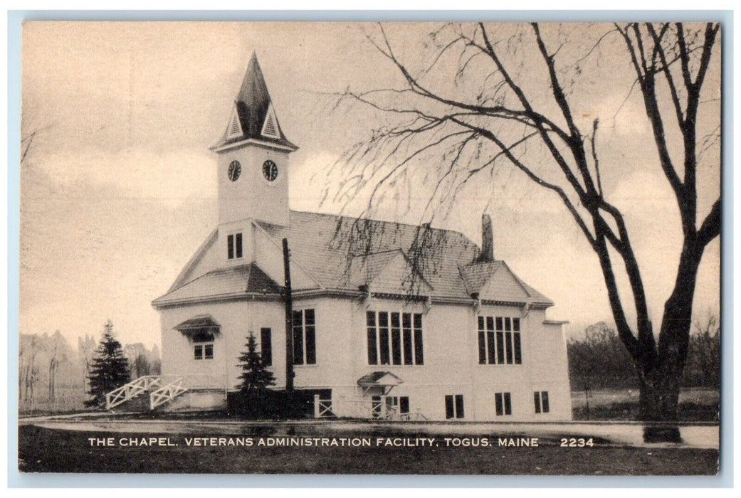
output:
[[[365,313],[368,365],[423,365],[422,313]]]

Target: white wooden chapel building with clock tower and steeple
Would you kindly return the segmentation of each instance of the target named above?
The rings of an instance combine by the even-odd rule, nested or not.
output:
[[[216,153],[219,225],[163,296],[153,407],[216,408],[253,333],[313,416],[571,419],[565,322],[554,303],[453,230],[290,210],[290,154],[256,56]],[[293,289],[287,351],[282,240]],[[169,386],[168,388],[166,388]],[[173,388],[175,386],[175,388]]]

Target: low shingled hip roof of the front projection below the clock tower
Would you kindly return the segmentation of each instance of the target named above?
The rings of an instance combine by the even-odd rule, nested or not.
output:
[[[242,297],[248,293],[279,294],[280,291],[281,287],[273,279],[257,265],[250,263],[211,270],[158,297],[152,304],[159,306],[199,299]]]

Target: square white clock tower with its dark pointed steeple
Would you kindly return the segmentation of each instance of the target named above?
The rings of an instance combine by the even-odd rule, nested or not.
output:
[[[211,147],[219,156],[219,231],[248,219],[288,226],[288,156],[297,149],[283,134],[253,53],[226,130]]]

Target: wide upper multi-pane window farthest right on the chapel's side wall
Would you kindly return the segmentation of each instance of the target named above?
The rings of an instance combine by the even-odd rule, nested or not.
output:
[[[519,318],[479,316],[479,364],[521,364],[519,334]]]

